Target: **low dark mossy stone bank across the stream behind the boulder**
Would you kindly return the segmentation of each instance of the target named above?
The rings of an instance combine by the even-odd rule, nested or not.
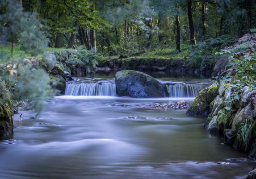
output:
[[[109,70],[136,70],[136,71],[175,71],[183,74],[195,74],[210,76],[216,61],[215,57],[207,57],[206,68],[201,71],[201,64],[192,64],[188,59],[180,58],[146,58],[146,57],[129,57],[129,58],[108,58],[100,61],[98,69]]]

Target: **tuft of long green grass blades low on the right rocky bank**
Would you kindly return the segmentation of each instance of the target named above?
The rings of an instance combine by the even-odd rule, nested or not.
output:
[[[248,149],[248,145],[250,143],[252,137],[252,121],[251,120],[245,120],[243,124],[241,124],[238,133],[237,133],[237,139],[239,140],[239,144],[243,144],[245,147],[245,150]]]

